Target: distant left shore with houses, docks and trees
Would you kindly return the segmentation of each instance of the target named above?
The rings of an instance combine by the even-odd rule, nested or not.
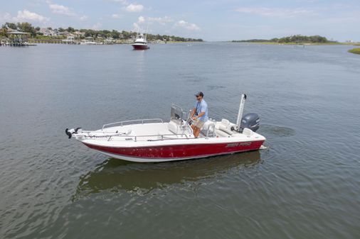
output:
[[[0,28],[0,45],[28,45],[28,43],[53,43],[66,45],[132,44],[138,36],[132,30],[93,30],[68,28],[40,28],[31,23],[6,22]],[[143,34],[148,43],[202,42],[201,38],[184,38],[176,35]],[[146,35],[146,36],[145,36]]]

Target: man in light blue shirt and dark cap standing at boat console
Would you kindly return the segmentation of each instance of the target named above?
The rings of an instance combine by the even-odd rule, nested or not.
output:
[[[194,131],[195,138],[198,138],[203,124],[208,121],[208,104],[203,100],[203,92],[199,91],[195,96],[196,103],[191,112],[191,118],[194,120],[194,123],[191,125],[191,128]]]

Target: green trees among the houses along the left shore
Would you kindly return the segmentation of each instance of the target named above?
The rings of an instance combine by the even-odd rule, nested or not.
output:
[[[11,28],[14,30],[20,30],[26,33],[30,33],[31,37],[33,38],[37,38],[37,37],[41,37],[41,35],[43,35],[43,33],[40,33],[39,30],[41,29],[40,27],[34,27],[31,25],[31,23],[4,23],[1,26],[0,29],[0,35],[2,36],[6,36],[7,33],[7,29]],[[48,28],[48,30],[55,30],[51,27]],[[76,31],[79,31],[80,33],[84,33],[84,37],[92,37],[92,38],[98,38],[98,37],[102,37],[102,38],[114,38],[114,39],[130,39],[130,38],[134,38],[137,33],[132,32],[132,31],[126,31],[126,30],[122,30],[122,31],[118,31],[118,30],[93,30],[93,29],[75,29],[73,27],[68,27],[68,28],[57,28],[56,30],[58,30],[59,33],[64,33],[64,32],[68,32],[68,33],[75,33]],[[181,38],[179,36],[175,36],[175,35],[154,35],[154,34],[147,34],[147,39],[148,40],[174,40],[174,41],[198,41],[201,42],[203,41],[202,39],[195,39],[195,38]]]

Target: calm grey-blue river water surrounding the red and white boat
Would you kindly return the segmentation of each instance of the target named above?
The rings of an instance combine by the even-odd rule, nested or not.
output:
[[[360,57],[351,46],[0,48],[0,238],[359,238]],[[137,164],[65,128],[260,114],[269,150]]]

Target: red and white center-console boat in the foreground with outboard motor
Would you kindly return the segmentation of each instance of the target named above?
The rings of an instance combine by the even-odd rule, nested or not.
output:
[[[265,137],[255,133],[260,119],[256,113],[243,115],[246,96],[241,95],[237,123],[227,119],[207,121],[194,138],[189,114],[171,106],[171,118],[108,123],[99,130],[66,129],[65,133],[102,154],[133,162],[166,162],[228,155],[262,148]]]

